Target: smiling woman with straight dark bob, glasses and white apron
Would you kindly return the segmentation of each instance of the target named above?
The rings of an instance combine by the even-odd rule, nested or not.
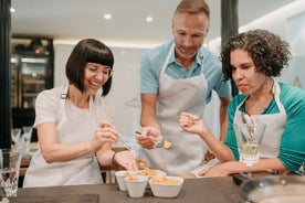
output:
[[[104,43],[85,39],[66,62],[67,85],[43,90],[35,101],[39,150],[24,188],[103,183],[99,165],[137,170],[130,151],[114,152],[119,140],[108,96],[114,56]]]

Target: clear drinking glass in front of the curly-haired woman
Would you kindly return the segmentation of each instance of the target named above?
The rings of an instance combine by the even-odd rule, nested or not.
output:
[[[240,161],[249,169],[260,160],[260,145],[262,142],[266,125],[261,122],[233,124]],[[249,171],[251,174],[251,171]]]

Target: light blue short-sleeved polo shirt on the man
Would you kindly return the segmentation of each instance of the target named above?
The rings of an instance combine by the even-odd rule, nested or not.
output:
[[[159,75],[167,54],[173,43],[173,40],[166,44],[145,52],[140,62],[140,93],[158,94]],[[166,74],[172,78],[187,78],[201,74],[201,64],[203,63],[202,73],[208,84],[207,103],[211,100],[212,89],[220,97],[231,96],[230,81],[224,82],[220,60],[204,46],[201,46],[197,53],[196,62],[191,68],[187,71],[180,63],[176,61],[175,52],[170,55]]]

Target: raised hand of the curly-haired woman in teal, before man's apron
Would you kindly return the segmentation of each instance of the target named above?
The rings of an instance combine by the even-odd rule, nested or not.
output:
[[[203,133],[208,128],[198,116],[183,111],[179,115],[179,124],[183,130],[198,135]]]

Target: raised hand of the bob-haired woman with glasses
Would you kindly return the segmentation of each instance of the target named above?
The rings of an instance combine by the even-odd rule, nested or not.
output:
[[[94,136],[91,140],[93,151],[99,150],[106,142],[116,143],[119,140],[119,132],[114,125],[102,120],[99,126],[95,129]]]

